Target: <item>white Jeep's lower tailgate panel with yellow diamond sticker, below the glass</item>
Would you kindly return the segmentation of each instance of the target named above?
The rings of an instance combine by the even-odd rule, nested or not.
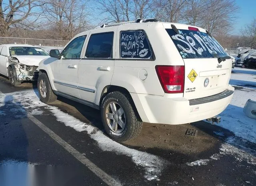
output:
[[[223,92],[231,75],[231,59],[220,64],[216,58],[184,59],[184,97],[197,99]]]

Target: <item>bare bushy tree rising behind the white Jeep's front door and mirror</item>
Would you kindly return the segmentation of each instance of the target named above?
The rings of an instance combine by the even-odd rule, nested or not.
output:
[[[52,31],[51,34],[54,34],[55,38],[69,40],[86,27],[88,1],[45,0],[44,2],[42,15],[47,20],[46,24],[50,25],[48,31]]]

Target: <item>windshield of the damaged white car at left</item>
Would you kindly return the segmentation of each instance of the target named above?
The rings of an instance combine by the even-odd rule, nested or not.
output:
[[[10,47],[10,55],[49,55],[40,47]]]

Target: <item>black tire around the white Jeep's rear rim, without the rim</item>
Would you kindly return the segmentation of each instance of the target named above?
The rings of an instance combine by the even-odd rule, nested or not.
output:
[[[137,137],[140,134],[140,131],[142,129],[142,121],[136,111],[134,110],[135,106],[132,107],[132,100],[123,93],[119,91],[114,91],[108,93],[104,99],[102,100],[101,104],[101,118],[102,123],[104,125],[104,128],[106,130],[106,133],[114,140],[116,141],[127,141],[130,139],[133,139]],[[116,133],[113,131],[109,125],[106,118],[106,110],[108,109],[108,105],[112,102],[117,103],[122,107],[125,115],[125,127],[122,132]]]

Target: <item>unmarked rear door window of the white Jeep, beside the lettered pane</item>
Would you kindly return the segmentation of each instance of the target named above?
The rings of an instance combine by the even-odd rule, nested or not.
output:
[[[93,34],[85,56],[87,58],[112,58],[114,32]]]

